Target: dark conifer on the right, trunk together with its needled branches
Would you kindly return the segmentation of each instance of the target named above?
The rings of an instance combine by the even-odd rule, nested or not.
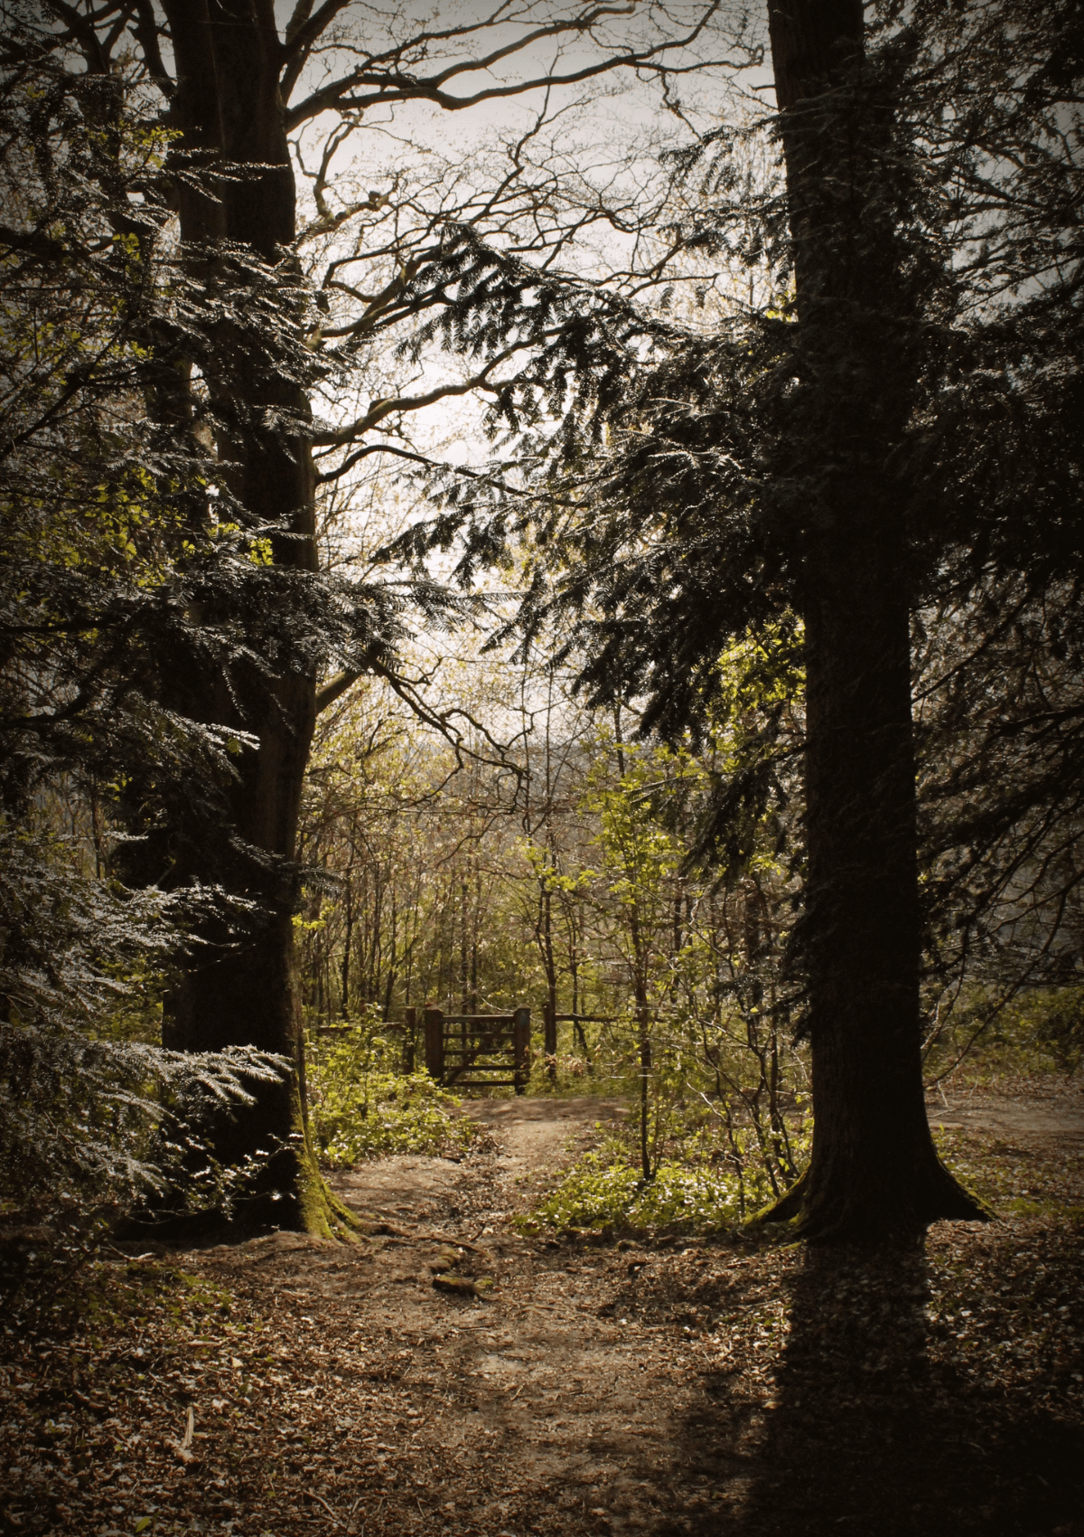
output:
[[[817,1131],[809,1170],[768,1216],[795,1219],[811,1239],[981,1216],[930,1140],[920,979],[932,933],[980,922],[1004,893],[1009,850],[1023,847],[1013,830],[1030,818],[1075,836],[1075,699],[1044,709],[1032,690],[1001,724],[984,702],[986,730],[964,739],[961,710],[989,699],[992,652],[980,641],[953,655],[943,630],[949,678],[918,744],[946,815],[924,808],[921,838],[912,719],[912,627],[938,612],[967,612],[961,641],[983,629],[993,639],[1009,633],[1000,604],[1015,587],[1032,619],[1023,670],[1029,647],[1064,656],[1076,633],[1072,12],[1004,0],[950,14],[884,6],[868,20],[857,0],[772,0],[777,112],[676,157],[680,178],[700,178],[699,204],[676,227],[691,258],[739,255],[775,297],[757,307],[735,295],[712,327],[597,284],[576,300],[571,284],[563,301],[539,284],[533,300],[557,340],[539,344],[530,387],[508,392],[521,456],[494,464],[488,483],[445,484],[433,529],[444,541],[470,530],[465,572],[510,530],[530,530],[521,622],[537,635],[571,613],[563,655],[585,656],[588,698],[637,698],[645,732],[703,732],[735,636],[758,638],[775,659],[769,693],[772,673],[805,669],[791,967],[806,996]],[[748,188],[735,151],[765,129],[782,151],[780,181]],[[511,267],[507,284],[530,289]],[[574,318],[562,321],[562,303]],[[953,719],[955,762],[941,764],[938,792],[930,755],[938,722],[950,733]],[[1006,762],[1012,741],[1029,749],[1015,756],[1020,778],[987,784],[990,753]],[[751,853],[782,750],[768,712],[758,742],[720,778],[700,850],[722,878]],[[963,785],[986,804],[961,816]],[[972,835],[1004,841],[1004,876],[987,870],[970,916],[960,904],[950,916],[963,890],[952,851],[966,855]],[[1038,865],[1056,842],[1044,836],[1027,835]],[[955,867],[975,868],[967,858]]]

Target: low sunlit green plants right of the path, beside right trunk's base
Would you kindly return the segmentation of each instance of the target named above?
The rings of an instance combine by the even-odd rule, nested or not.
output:
[[[557,1176],[519,1227],[528,1234],[719,1233],[772,1196],[766,1173],[746,1168],[739,1180],[711,1157],[663,1157],[645,1180],[628,1145],[606,1137]]]

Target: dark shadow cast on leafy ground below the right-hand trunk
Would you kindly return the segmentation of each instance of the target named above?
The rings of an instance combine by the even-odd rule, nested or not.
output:
[[[924,1247],[809,1251],[771,1397],[708,1379],[685,1465],[716,1502],[660,1537],[1084,1537],[1079,1429],[934,1360],[927,1299]]]

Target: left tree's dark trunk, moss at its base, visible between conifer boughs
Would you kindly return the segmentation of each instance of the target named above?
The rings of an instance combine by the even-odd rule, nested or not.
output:
[[[273,0],[166,0],[178,89],[172,124],[195,163],[259,166],[213,183],[216,198],[181,181],[181,237],[229,240],[264,261],[283,258],[295,235],[295,186],[283,124],[281,68]],[[266,169],[264,169],[266,168]],[[315,476],[304,435],[264,426],[304,423],[301,387],[273,370],[238,364],[230,337],[220,338],[221,372],[207,380],[224,430],[220,455],[235,467],[230,490],[266,524],[276,566],[316,570]],[[238,349],[240,350],[240,349]],[[253,733],[258,750],[240,758],[232,790],[236,833],[258,851],[240,856],[236,882],[263,918],[232,945],[210,948],[187,970],[177,991],[166,1039],[180,1050],[255,1045],[293,1064],[289,1082],[256,1085],[256,1102],[212,1128],[212,1148],[227,1162],[270,1154],[255,1191],[241,1202],[246,1222],[329,1233],[349,1214],[319,1179],[304,1113],[304,1054],[293,953],[293,859],[298,813],[315,724],[315,676],[281,670],[273,681],[240,673],[233,699],[216,684],[187,681],[195,707],[209,721]],[[200,689],[203,687],[203,693]],[[193,871],[200,873],[200,871]]]

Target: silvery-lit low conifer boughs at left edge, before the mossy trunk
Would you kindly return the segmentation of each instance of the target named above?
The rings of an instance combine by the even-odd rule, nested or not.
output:
[[[163,968],[169,901],[80,873],[63,841],[0,819],[0,1208],[88,1220],[169,1191],[229,1210],[246,1170],[203,1153],[207,1107],[250,1099],[279,1059],[109,1039],[132,974]]]

